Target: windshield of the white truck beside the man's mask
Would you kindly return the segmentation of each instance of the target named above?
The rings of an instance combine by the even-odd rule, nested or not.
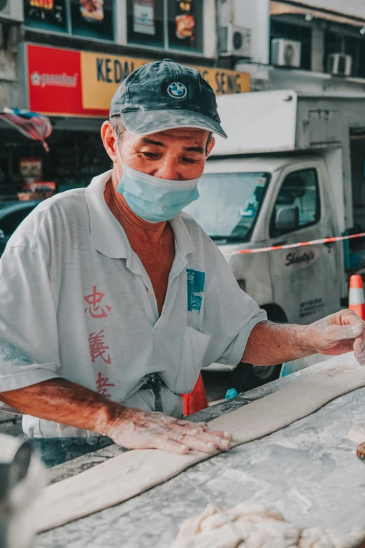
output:
[[[215,241],[249,241],[270,178],[269,173],[205,174],[199,199],[185,211]]]

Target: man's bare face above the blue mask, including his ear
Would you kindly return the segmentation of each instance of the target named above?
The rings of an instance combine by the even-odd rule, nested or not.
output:
[[[122,174],[113,129],[109,125],[101,134],[108,155]],[[142,136],[125,130],[118,145],[122,162],[132,169],[163,179],[185,181],[199,178],[203,173],[208,135],[204,129],[192,128],[168,129]],[[213,146],[214,139],[210,141],[208,154]]]

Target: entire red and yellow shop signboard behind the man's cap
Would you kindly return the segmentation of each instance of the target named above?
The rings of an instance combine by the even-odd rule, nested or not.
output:
[[[106,118],[118,85],[150,60],[27,44],[29,108],[48,115]],[[248,73],[194,68],[217,95],[250,91]]]

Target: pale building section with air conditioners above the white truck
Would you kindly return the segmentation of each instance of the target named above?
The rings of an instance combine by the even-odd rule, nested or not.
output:
[[[219,0],[251,31],[250,57],[231,57],[251,90],[365,92],[364,0]]]

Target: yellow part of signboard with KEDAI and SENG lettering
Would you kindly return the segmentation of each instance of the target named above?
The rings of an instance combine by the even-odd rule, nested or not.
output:
[[[131,72],[138,69],[150,59],[120,57],[104,53],[80,52],[81,87],[83,108],[108,110],[110,101],[118,85]],[[250,91],[248,73],[210,69],[206,66],[194,66],[201,76],[213,87],[217,95]]]

